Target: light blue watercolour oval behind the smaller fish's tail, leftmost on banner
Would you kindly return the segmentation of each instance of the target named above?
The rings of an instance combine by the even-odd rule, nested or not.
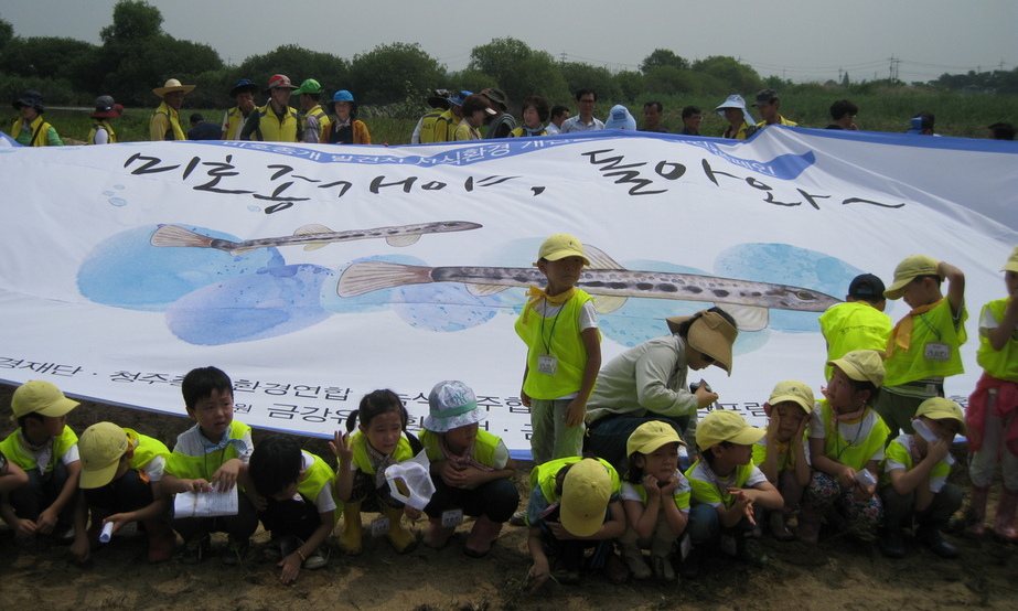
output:
[[[181,225],[212,237],[236,236]],[[129,310],[163,311],[181,297],[229,278],[283,265],[276,248],[229,255],[214,248],[158,247],[150,244],[158,226],[116,234],[96,246],[78,268],[78,290],[97,303]]]

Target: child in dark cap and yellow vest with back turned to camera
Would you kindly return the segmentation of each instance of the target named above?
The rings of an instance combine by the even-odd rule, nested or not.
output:
[[[883,280],[872,274],[861,274],[849,282],[845,301],[819,315],[817,322],[827,341],[828,362],[854,350],[883,352],[891,334],[891,319],[883,313],[887,307],[883,290]],[[824,379],[831,379],[831,365],[827,365]]]

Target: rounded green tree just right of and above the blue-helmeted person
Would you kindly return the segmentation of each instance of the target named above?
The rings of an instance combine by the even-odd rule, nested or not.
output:
[[[446,78],[446,67],[419,44],[396,42],[354,55],[349,88],[363,104],[393,104],[417,99]]]

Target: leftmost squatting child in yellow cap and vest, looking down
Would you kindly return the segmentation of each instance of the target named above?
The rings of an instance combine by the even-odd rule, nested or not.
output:
[[[25,472],[28,482],[8,491],[0,516],[21,543],[37,535],[62,536],[74,521],[82,462],[77,436],[66,420],[77,406],[42,379],[25,382],[11,397],[18,428],[0,441],[0,452]]]

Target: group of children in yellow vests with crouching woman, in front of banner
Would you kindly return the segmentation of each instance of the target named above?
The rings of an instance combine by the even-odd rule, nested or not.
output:
[[[286,81],[277,85],[289,93]],[[274,111],[269,125],[278,129],[290,118]],[[269,129],[248,121],[243,129]],[[322,121],[317,129],[331,128]],[[776,380],[765,428],[717,408],[719,395],[705,382],[689,384],[690,371],[733,371],[739,331],[724,309],[669,318],[667,334],[602,363],[597,311],[577,287],[590,265],[581,242],[555,234],[535,259],[547,281],[529,289],[515,321],[527,347],[519,397],[531,412],[534,461],[522,511],[506,446],[479,426],[484,411],[462,382],[435,385],[419,437],[407,430],[396,393],[364,396],[329,444],[333,470],[287,436],[254,444],[250,427],[234,418],[231,378],[201,367],[182,380],[194,426],[172,451],[112,422],[78,437],[66,425],[77,401],[46,380],[17,388],[18,428],[0,441],[0,517],[26,548],[37,537],[73,537],[81,561],[132,522],[148,538],[150,561],[169,559],[180,535],[181,559],[199,562],[211,554],[210,533],[222,532],[228,565],[249,558],[260,521],[271,533],[262,551],[283,582],[328,564],[340,518],[336,545],[361,554],[365,512],[378,514],[372,533],[399,553],[418,542],[407,519],[426,516],[422,540],[439,548],[464,516],[474,517],[463,545],[469,557],[485,556],[506,523],[526,526],[534,589],[592,570],[613,582],[675,581],[677,572],[696,575],[705,555],[759,565],[764,534],[815,544],[825,532],[848,533],[900,558],[911,533],[933,554],[954,558],[958,550],[943,530],[963,502],[947,481],[952,443],[963,433],[972,483],[957,529],[986,532],[999,465],[1004,487],[992,533],[1018,543],[1018,247],[1001,269],[1007,296],[979,313],[984,373],[965,410],[943,386],[962,372],[965,276],[913,255],[889,287],[861,275],[845,301],[819,317],[827,385],[815,393]],[[883,313],[888,299],[911,308],[893,325]],[[236,508],[174,512],[181,503],[173,495],[212,491],[235,491]]]

